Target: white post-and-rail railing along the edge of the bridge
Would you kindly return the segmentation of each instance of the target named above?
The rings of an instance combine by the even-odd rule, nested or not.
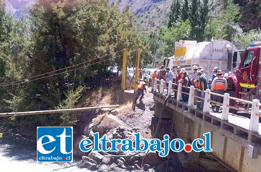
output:
[[[168,87],[166,87],[166,83],[168,83]],[[182,87],[189,89],[190,90],[189,93],[183,92]],[[164,88],[167,88],[166,96],[174,95],[176,101],[181,100],[182,93],[189,95],[188,106],[194,105],[195,98],[200,99],[200,100],[204,100],[204,106],[203,106],[203,112],[204,113],[210,113],[210,103],[218,103],[218,104],[222,105],[223,106],[222,115],[221,115],[222,120],[228,120],[229,109],[234,109],[234,110],[237,110],[237,111],[242,111],[244,113],[247,113],[247,114],[251,115],[250,116],[249,130],[252,131],[252,132],[258,132],[259,117],[261,117],[260,100],[254,99],[253,102],[246,101],[246,100],[230,97],[228,93],[221,95],[221,94],[211,92],[210,89],[207,89],[206,91],[202,91],[202,90],[196,89],[194,86],[184,87],[181,84],[175,84],[175,83],[172,83],[171,81],[165,82],[163,79],[161,79],[161,80],[156,79],[156,82],[154,83],[154,90],[153,91],[157,92],[157,90],[159,90],[160,94],[163,94]],[[197,96],[196,93],[198,93],[198,92],[205,92],[205,97],[202,98],[200,96]],[[210,98],[211,95],[222,97],[223,103],[219,103],[219,102],[215,102],[215,101],[211,100],[211,98]],[[232,106],[232,105],[229,104],[230,100],[237,101],[238,103],[249,104],[251,106],[251,109],[242,108],[242,107],[238,107],[238,106]]]

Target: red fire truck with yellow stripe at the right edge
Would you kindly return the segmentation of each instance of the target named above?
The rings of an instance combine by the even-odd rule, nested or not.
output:
[[[238,53],[233,54],[233,69]],[[227,81],[231,96],[250,101],[261,99],[261,42],[255,42],[244,51],[238,69],[228,76]]]

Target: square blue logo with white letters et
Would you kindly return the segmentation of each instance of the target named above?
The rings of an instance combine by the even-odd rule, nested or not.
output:
[[[37,127],[37,162],[72,162],[72,127]]]

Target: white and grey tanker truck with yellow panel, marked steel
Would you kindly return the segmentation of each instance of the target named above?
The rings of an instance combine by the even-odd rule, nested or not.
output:
[[[232,60],[235,59],[237,66],[240,64],[239,53],[233,59],[236,50],[234,44],[223,39],[211,42],[180,40],[175,42],[174,56],[168,58],[166,67],[176,69],[180,66],[192,74],[194,65],[201,66],[207,78],[211,78],[215,67],[219,67],[223,72],[232,72]]]

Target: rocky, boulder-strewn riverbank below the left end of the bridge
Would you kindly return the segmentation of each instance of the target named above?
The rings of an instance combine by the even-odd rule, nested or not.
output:
[[[131,105],[131,104],[130,104]],[[135,156],[128,156],[133,152],[82,152],[79,149],[79,142],[82,139],[93,139],[94,133],[108,139],[129,138],[133,139],[134,134],[140,133],[141,138],[151,139],[158,123],[154,117],[154,102],[151,93],[145,94],[143,102],[137,103],[135,111],[131,106],[119,109],[100,109],[85,111],[78,122],[78,135],[74,140],[74,155],[82,156],[79,168],[87,168],[98,172],[165,172],[167,158],[162,158],[155,152],[139,153]],[[163,119],[156,138],[163,139],[164,134],[171,134],[171,119]],[[107,145],[110,146],[110,145]],[[118,145],[119,148],[121,145]],[[168,172],[181,172],[182,167],[175,154],[168,157]]]

